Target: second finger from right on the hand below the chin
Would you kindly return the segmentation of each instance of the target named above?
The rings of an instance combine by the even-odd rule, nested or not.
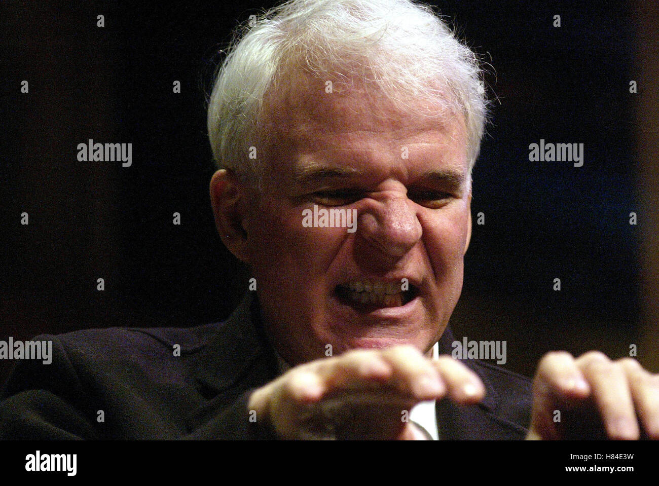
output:
[[[382,352],[393,370],[393,385],[418,400],[444,396],[446,387],[436,367],[413,346],[393,346]]]

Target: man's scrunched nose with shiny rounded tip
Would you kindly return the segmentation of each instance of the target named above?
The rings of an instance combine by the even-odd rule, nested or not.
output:
[[[358,243],[371,258],[376,250],[380,257],[399,259],[415,246],[421,233],[416,211],[402,194],[378,198],[357,218]]]

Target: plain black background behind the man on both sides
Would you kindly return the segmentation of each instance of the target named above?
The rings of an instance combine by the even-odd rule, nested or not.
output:
[[[223,319],[246,273],[215,233],[205,101],[231,30],[275,2],[70,4],[0,5],[0,339]],[[659,371],[653,3],[436,5],[492,65],[494,99],[455,336],[507,340],[527,375],[547,350],[629,344]],[[89,138],[132,143],[132,167],[79,162]],[[529,162],[540,138],[585,144],[583,167]]]

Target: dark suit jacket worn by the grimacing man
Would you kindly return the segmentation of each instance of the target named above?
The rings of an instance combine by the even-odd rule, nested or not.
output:
[[[191,329],[92,329],[57,336],[53,361],[20,360],[0,394],[1,439],[274,439],[249,420],[250,393],[277,376],[248,294],[224,323]],[[446,331],[440,353],[451,352]],[[175,345],[180,356],[175,356]],[[487,395],[438,401],[442,439],[523,439],[529,379],[465,362]]]

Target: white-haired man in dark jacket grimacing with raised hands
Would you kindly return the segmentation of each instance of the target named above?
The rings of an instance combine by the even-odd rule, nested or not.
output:
[[[657,377],[634,360],[551,353],[531,392],[447,356],[483,96],[473,53],[407,0],[252,22],[208,114],[243,304],[223,325],[51,338],[53,367],[11,377],[0,436],[659,438]]]

